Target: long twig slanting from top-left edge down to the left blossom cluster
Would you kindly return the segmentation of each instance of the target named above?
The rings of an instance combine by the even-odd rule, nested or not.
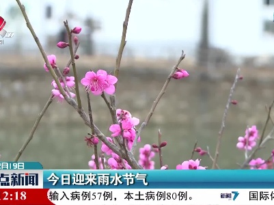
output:
[[[43,46],[42,44],[40,43],[40,40],[39,38],[37,37],[36,35],[36,32],[34,31],[31,23],[29,22],[29,17],[27,16],[27,13],[26,13],[26,10],[25,10],[25,6],[20,2],[20,0],[16,0],[16,2],[18,3],[18,6],[25,18],[25,21],[26,21],[26,25],[27,25],[27,28],[29,29],[29,31],[31,31],[31,35],[33,36],[34,40],[36,41],[36,44],[38,46],[38,49],[40,50],[40,53],[42,54],[42,57],[46,63],[46,67],[49,68],[49,72],[51,73],[53,79],[55,80],[56,84],[57,84],[57,87],[60,91],[60,93],[64,96],[64,98],[67,100],[68,99],[68,96],[66,95],[66,92],[64,90],[63,87],[61,87],[61,83],[58,81],[58,77],[57,75],[55,74],[54,70],[53,70],[53,67],[51,66],[51,64],[49,63],[49,59],[48,57],[46,56],[46,52],[44,51],[43,49]]]

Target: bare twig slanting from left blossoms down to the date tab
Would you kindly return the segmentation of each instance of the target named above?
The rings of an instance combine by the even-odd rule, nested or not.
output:
[[[22,148],[20,148],[20,150],[16,154],[16,156],[14,158],[14,161],[18,161],[18,159],[20,158],[20,156],[24,152],[25,148],[27,148],[27,145],[29,144],[29,142],[33,138],[33,134],[35,133],[36,128],[38,127],[38,124],[39,124],[40,120],[42,119],[44,113],[46,112],[46,109],[48,109],[49,105],[51,105],[51,102],[53,102],[53,95],[50,96],[49,100],[46,102],[46,105],[44,105],[41,113],[38,115],[38,118],[36,119],[36,122],[34,123],[33,128],[31,129],[31,132],[29,133],[29,137],[27,137],[25,143],[23,143]]]

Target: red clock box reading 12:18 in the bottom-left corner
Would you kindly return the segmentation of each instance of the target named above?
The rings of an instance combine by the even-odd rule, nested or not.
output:
[[[49,189],[0,189],[0,204],[51,205]]]

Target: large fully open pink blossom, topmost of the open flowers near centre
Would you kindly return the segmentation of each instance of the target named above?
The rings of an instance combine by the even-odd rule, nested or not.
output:
[[[85,77],[81,79],[82,85],[87,87],[94,95],[101,95],[102,92],[107,94],[114,94],[114,84],[118,79],[111,74],[107,74],[105,70],[98,70],[96,73],[89,71],[85,74]]]

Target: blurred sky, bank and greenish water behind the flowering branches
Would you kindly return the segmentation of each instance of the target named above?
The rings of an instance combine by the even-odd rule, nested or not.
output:
[[[128,1],[22,3],[47,55],[57,55],[59,68],[69,59],[68,49],[56,46],[66,41],[63,21],[67,19],[71,28],[82,27],[79,78],[90,69],[113,72]],[[262,133],[265,105],[274,99],[273,12],[273,0],[133,2],[117,107],[143,122],[182,49],[187,56],[180,66],[190,74],[169,84],[139,147],[156,143],[160,128],[167,141],[163,162],[169,169],[190,159],[196,140],[198,147],[206,150],[208,146],[213,155],[230,87],[240,67],[244,79],[233,97],[238,105],[228,112],[218,163],[222,169],[236,169],[236,163],[243,162],[237,138],[245,135],[247,126],[256,125]],[[7,22],[5,30],[14,32],[12,38],[0,36],[0,153],[3,161],[12,161],[51,94],[52,78],[44,72],[44,61],[16,2],[1,5],[0,16]],[[81,94],[87,111],[83,87]],[[92,108],[96,125],[110,135],[111,118],[102,98],[93,97]],[[271,124],[266,131],[270,129]],[[90,129],[72,107],[53,102],[20,161],[40,161],[45,169],[88,169],[93,150],[85,144],[87,133]],[[256,157],[267,158],[273,147],[269,143]],[[158,156],[155,161],[159,169]],[[212,161],[202,156],[201,164],[211,167]]]

